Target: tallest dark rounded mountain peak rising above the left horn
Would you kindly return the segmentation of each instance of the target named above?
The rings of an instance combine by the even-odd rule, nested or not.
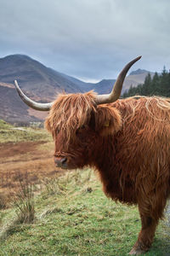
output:
[[[61,73],[26,55],[8,55],[0,59],[0,81],[13,84],[14,79],[18,80],[20,88],[28,92],[28,96],[39,98],[41,95],[39,100],[42,102],[54,99],[56,94],[63,90],[80,90],[78,85],[75,86],[69,79],[65,79]]]

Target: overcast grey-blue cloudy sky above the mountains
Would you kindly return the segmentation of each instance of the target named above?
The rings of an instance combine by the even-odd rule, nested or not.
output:
[[[0,0],[0,58],[29,55],[83,80],[170,68],[170,0]]]

